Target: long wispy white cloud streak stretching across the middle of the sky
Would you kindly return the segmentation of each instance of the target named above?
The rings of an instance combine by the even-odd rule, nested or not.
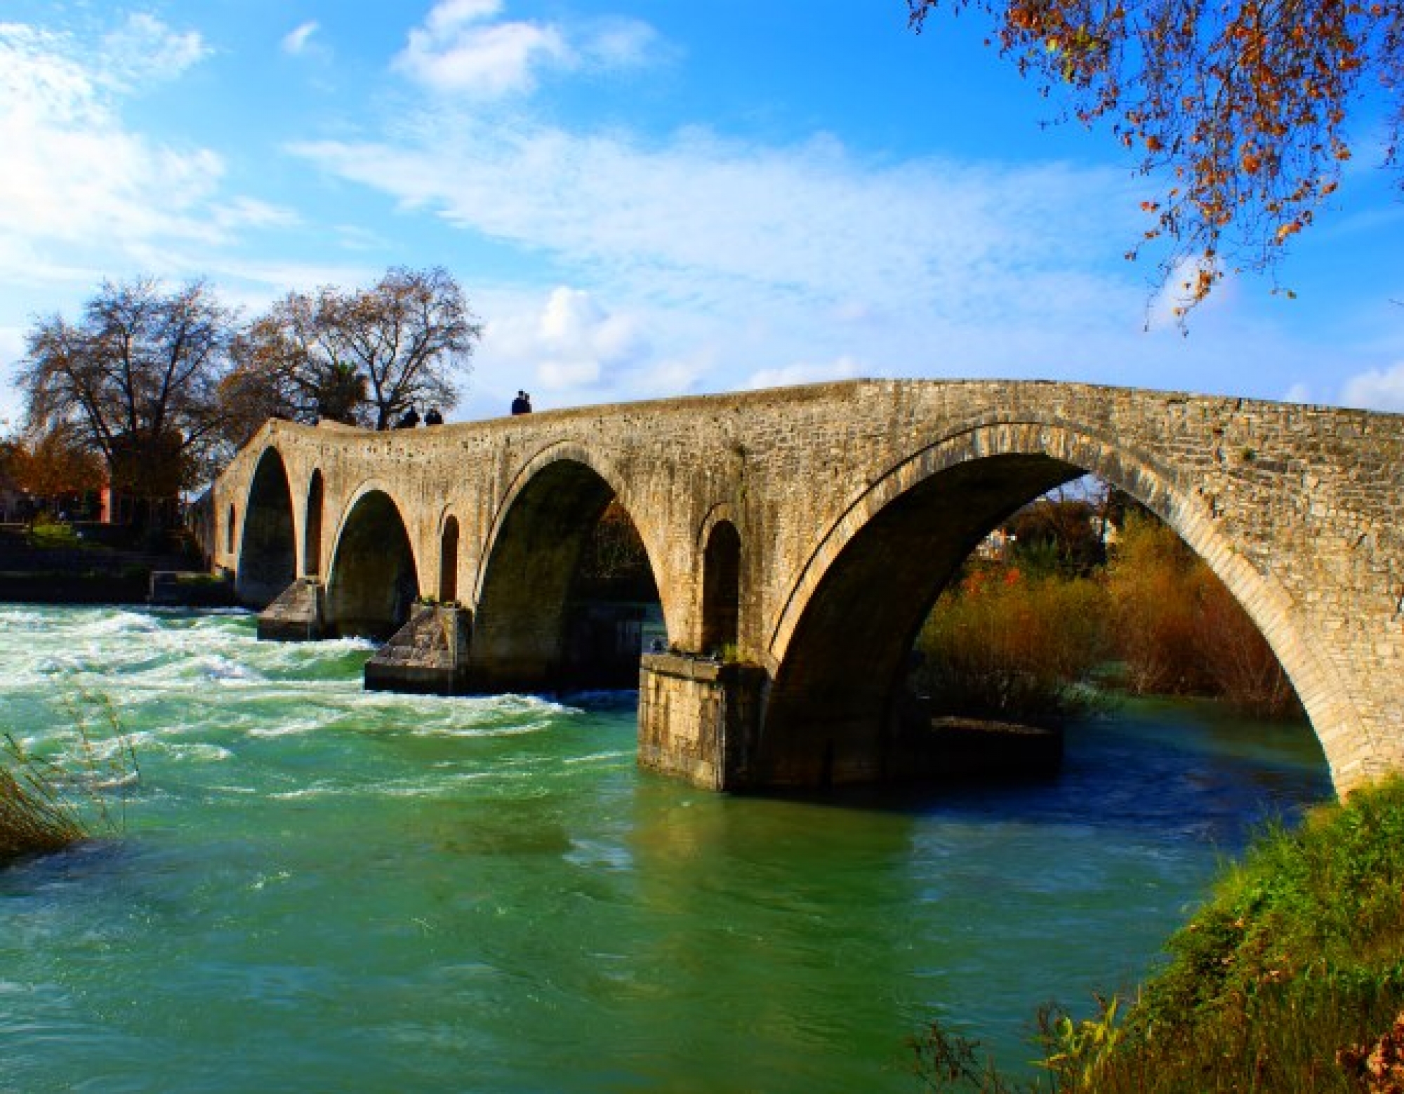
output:
[[[827,137],[775,147],[692,129],[646,144],[465,116],[423,130],[435,136],[293,151],[612,289],[703,309],[744,296],[869,316],[1060,309],[1068,292],[1106,290],[1078,279],[1097,281],[1090,241],[1125,188],[1059,164],[869,164]]]

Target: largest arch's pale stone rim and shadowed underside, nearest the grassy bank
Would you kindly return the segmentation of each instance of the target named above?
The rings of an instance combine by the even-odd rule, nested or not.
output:
[[[1155,512],[1223,581],[1282,662],[1339,777],[1358,720],[1299,633],[1282,586],[1150,461],[1091,431],[1025,421],[976,425],[913,454],[830,529],[771,633],[772,684],[748,781],[826,785],[892,774],[885,753],[900,683],[936,596],[1001,520],[1085,473]]]

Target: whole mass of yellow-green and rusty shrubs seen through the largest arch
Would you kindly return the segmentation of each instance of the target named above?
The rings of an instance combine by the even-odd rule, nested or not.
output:
[[[1105,562],[1046,541],[972,558],[917,640],[938,714],[1033,724],[1087,713],[1091,684],[1207,696],[1300,717],[1292,684],[1233,595],[1167,526],[1132,513]]]

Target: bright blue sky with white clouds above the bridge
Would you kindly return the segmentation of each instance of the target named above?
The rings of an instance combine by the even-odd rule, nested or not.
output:
[[[4,0],[0,366],[104,276],[253,314],[444,265],[486,325],[455,418],[852,376],[1404,410],[1375,115],[1297,299],[1230,279],[1185,337],[1123,258],[1147,182],[981,35],[903,0]]]

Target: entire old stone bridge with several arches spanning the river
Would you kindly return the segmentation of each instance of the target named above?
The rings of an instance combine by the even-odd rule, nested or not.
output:
[[[861,380],[397,432],[271,421],[202,508],[267,637],[397,633],[369,686],[552,690],[611,501],[671,652],[640,762],[861,781],[970,550],[1085,471],[1164,518],[1276,651],[1346,791],[1404,769],[1404,417],[1042,381]],[[445,606],[423,606],[423,599]],[[715,651],[724,656],[706,656]]]

